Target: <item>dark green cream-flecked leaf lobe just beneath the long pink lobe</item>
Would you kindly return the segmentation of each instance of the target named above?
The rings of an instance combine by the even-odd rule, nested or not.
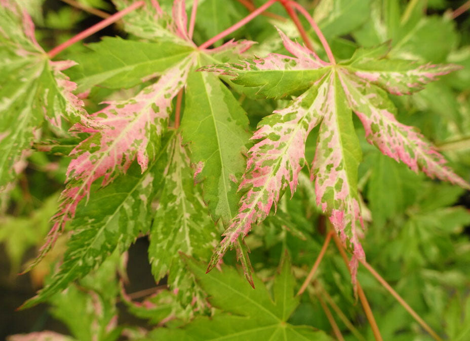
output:
[[[101,265],[114,250],[127,250],[139,233],[148,231],[153,216],[152,200],[161,187],[173,140],[174,133],[171,133],[143,175],[134,165],[125,176],[114,181],[114,186],[94,193],[86,206],[79,207],[72,221],[74,233],[68,241],[63,263],[51,284],[25,306],[65,289],[70,282]]]

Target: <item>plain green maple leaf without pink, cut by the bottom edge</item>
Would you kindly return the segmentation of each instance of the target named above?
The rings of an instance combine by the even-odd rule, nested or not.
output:
[[[165,340],[318,340],[331,338],[311,326],[288,323],[299,305],[294,295],[295,279],[290,262],[285,260],[275,279],[272,293],[258,278],[256,289],[247,287],[238,271],[224,267],[223,271],[205,274],[205,266],[186,259],[188,269],[208,293],[212,306],[223,310],[212,318],[198,317],[181,329],[158,328],[148,339]],[[236,302],[236,304],[234,303]]]

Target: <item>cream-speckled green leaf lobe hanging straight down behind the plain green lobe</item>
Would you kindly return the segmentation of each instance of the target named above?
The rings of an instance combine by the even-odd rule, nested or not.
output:
[[[169,146],[169,164],[163,174],[164,186],[150,232],[149,260],[155,281],[167,274],[168,285],[187,306],[204,305],[203,293],[185,270],[179,252],[207,260],[215,245],[215,228],[199,188],[194,187],[189,156],[177,135]]]

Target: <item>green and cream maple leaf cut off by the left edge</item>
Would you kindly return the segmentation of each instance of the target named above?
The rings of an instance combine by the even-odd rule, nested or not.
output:
[[[27,150],[44,120],[61,125],[86,114],[62,71],[69,60],[51,61],[34,38],[34,24],[14,0],[0,1],[0,189],[21,172]]]

